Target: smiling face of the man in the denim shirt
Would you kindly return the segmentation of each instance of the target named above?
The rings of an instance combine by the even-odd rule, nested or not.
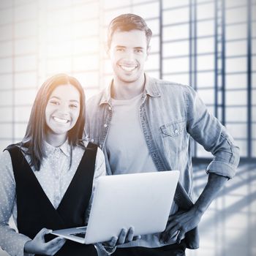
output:
[[[136,82],[143,75],[148,56],[145,32],[114,32],[109,54],[115,77],[122,83]]]

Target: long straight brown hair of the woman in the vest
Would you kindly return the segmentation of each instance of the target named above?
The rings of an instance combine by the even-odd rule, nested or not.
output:
[[[29,124],[26,128],[26,134],[20,143],[25,154],[31,157],[31,165],[36,170],[40,169],[42,158],[45,157],[44,138],[47,129],[45,121],[45,108],[50,94],[57,86],[69,84],[78,89],[80,93],[80,113],[75,126],[68,132],[68,141],[71,146],[83,146],[83,129],[85,125],[85,94],[82,86],[76,78],[66,74],[53,75],[42,84],[31,110]]]

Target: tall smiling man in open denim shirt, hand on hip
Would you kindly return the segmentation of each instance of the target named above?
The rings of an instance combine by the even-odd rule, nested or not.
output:
[[[185,255],[186,247],[196,249],[196,227],[238,165],[233,138],[192,87],[145,74],[151,34],[138,15],[124,14],[111,21],[108,54],[113,80],[87,102],[86,135],[104,151],[109,175],[181,173],[165,232],[118,246],[113,255]],[[190,200],[191,138],[214,155],[206,168],[208,182],[195,204]]]

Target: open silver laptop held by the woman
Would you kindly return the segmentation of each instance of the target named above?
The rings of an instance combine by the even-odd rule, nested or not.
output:
[[[52,233],[81,244],[94,244],[110,241],[123,227],[135,227],[135,236],[162,232],[178,176],[178,170],[171,170],[99,177],[87,227]]]

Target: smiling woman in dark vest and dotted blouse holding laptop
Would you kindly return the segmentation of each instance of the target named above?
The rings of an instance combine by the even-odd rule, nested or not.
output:
[[[105,175],[102,151],[82,140],[84,124],[78,80],[65,74],[46,80],[25,137],[0,157],[0,246],[10,255],[97,255],[94,245],[49,234],[85,225],[92,187]],[[18,233],[8,225],[11,215]],[[123,230],[108,245],[124,243],[126,236]]]

